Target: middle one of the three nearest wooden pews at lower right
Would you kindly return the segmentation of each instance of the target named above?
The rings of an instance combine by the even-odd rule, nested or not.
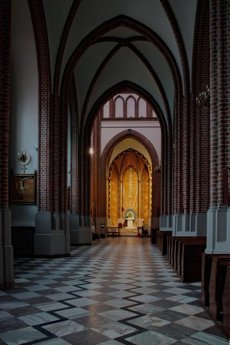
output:
[[[222,299],[225,287],[227,268],[230,259],[212,259],[212,268],[209,282],[209,310],[208,313],[215,321],[223,320]]]

